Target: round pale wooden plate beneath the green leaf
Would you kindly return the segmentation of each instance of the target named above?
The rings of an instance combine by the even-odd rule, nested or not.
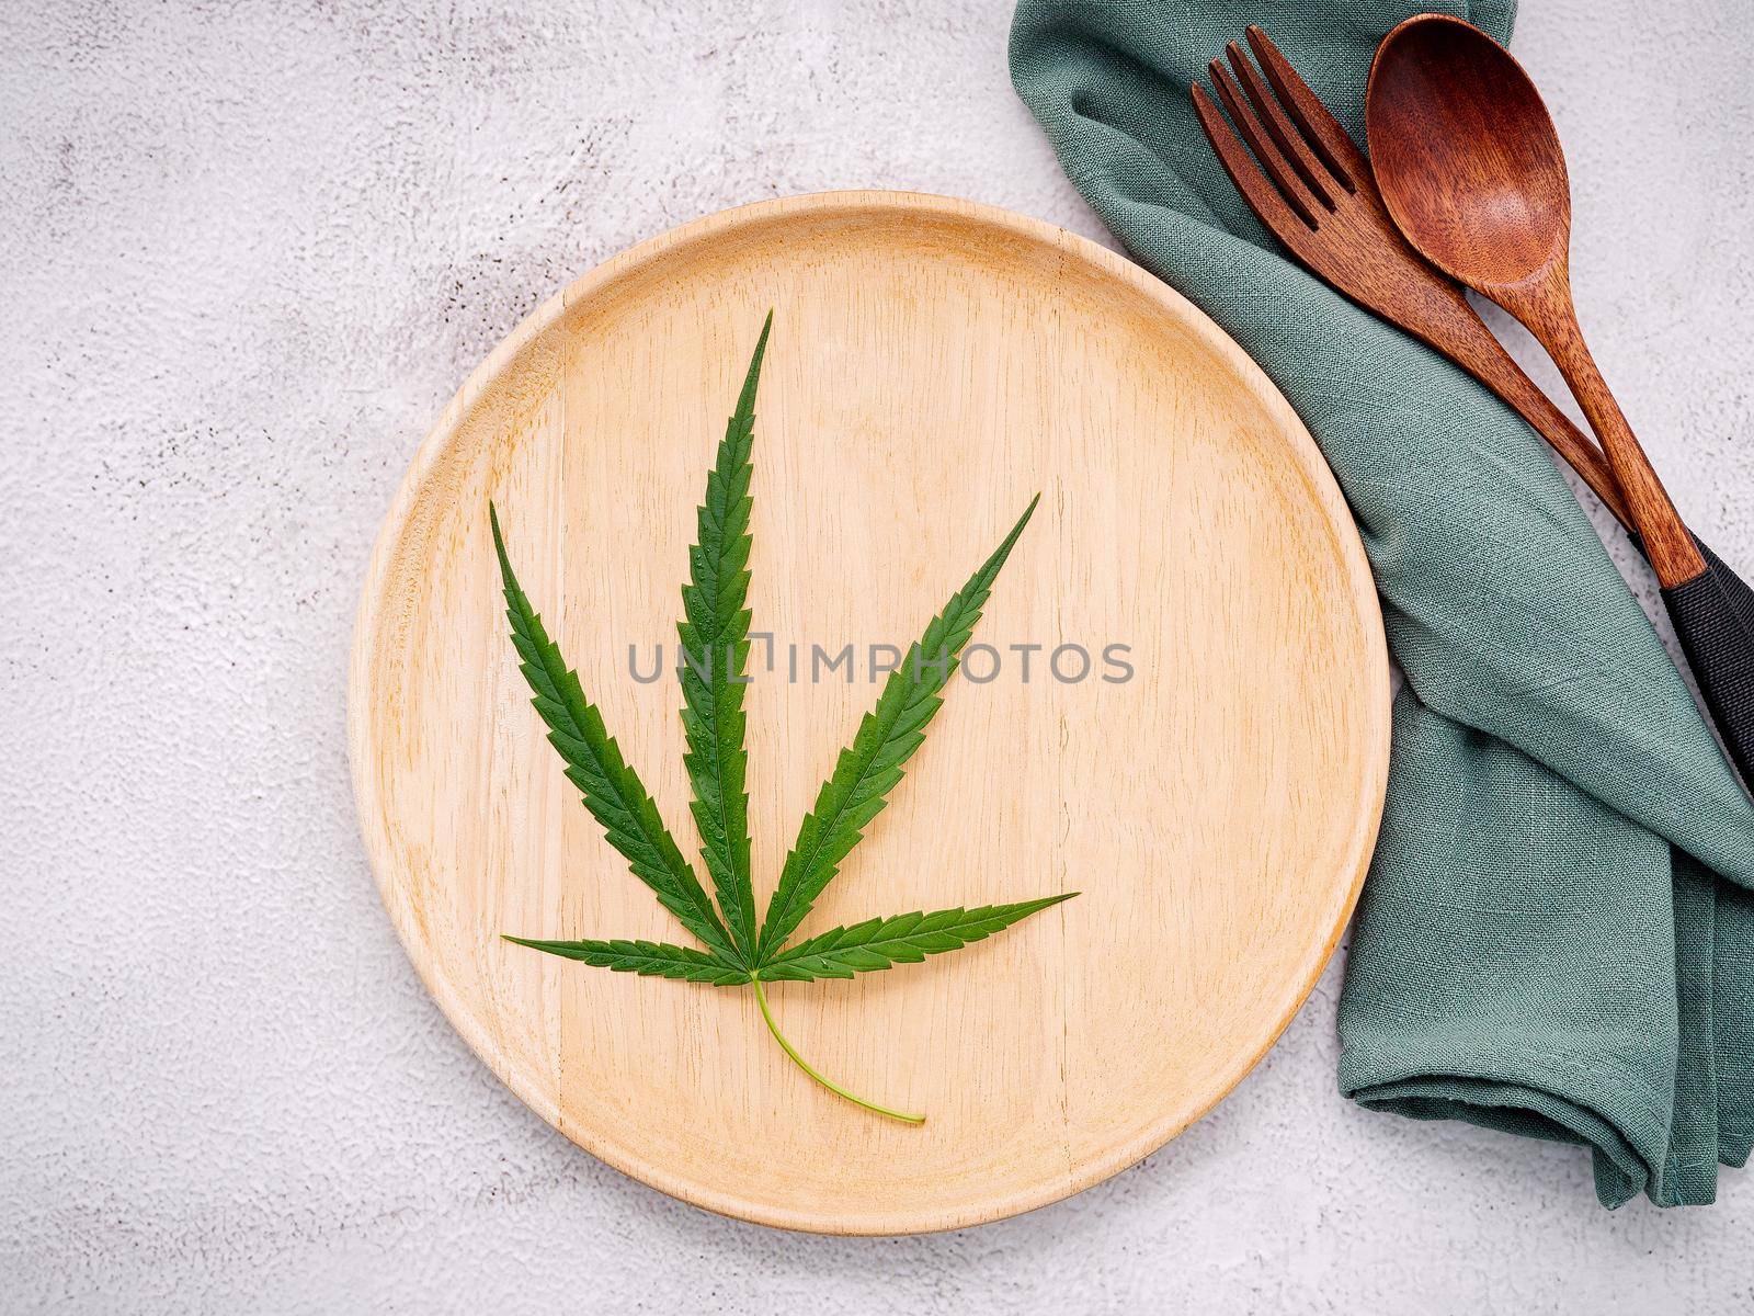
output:
[[[917,637],[1044,493],[975,633],[995,656],[952,681],[803,932],[1082,895],[926,963],[772,990],[807,1058],[924,1111],[923,1126],[812,1084],[747,988],[500,941],[688,933],[542,737],[488,500],[693,856],[677,686],[631,672],[649,677],[656,644],[674,662],[695,505],[768,307],[751,607],[775,670],[758,665],[747,691],[761,900],[875,700],[866,647]],[[812,683],[812,646],[847,642],[852,681]],[[1089,676],[1066,679],[1075,649],[1051,672],[1059,646],[1089,653]],[[1128,646],[1131,679],[1103,679],[1121,676],[1107,646]],[[349,721],[384,904],[446,1014],[524,1102],[712,1211],[902,1234],[1086,1188],[1261,1058],[1358,897],[1389,676],[1340,491],[1212,321],[1035,219],[833,193],[633,247],[470,375],[377,542]]]

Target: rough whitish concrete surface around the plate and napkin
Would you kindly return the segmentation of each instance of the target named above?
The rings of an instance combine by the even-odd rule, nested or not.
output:
[[[1754,1176],[1607,1214],[1575,1149],[1359,1112],[1337,967],[1187,1135],[942,1237],[709,1216],[488,1074],[379,909],[342,737],[372,535],[453,388],[737,202],[917,188],[1098,235],[1007,0],[507,9],[0,5],[0,1309],[1747,1309]],[[1531,0],[1517,51],[1607,374],[1754,567],[1745,18]]]

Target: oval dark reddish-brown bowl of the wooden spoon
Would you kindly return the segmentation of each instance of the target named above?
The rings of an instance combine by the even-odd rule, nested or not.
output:
[[[1445,274],[1487,291],[1565,260],[1559,133],[1522,65],[1473,25],[1428,14],[1394,28],[1365,128],[1389,214]]]

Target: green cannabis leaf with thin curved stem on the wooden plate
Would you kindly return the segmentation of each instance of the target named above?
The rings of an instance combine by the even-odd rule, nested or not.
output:
[[[688,554],[689,579],[682,586],[682,619],[677,623],[682,647],[677,676],[688,739],[682,762],[695,790],[691,811],[700,833],[700,856],[712,879],[717,907],[665,828],[638,774],[623,760],[616,740],[603,728],[596,705],[584,697],[577,672],[567,667],[560,647],[544,630],[542,618],[517,584],[500,533],[498,511],[491,504],[488,507],[493,547],[505,583],[512,646],[533,693],[531,704],[547,723],[549,742],[567,763],[567,777],[579,788],[584,807],[602,825],[609,844],[705,949],[651,941],[531,941],[510,935],[505,941],[619,974],[712,986],[749,984],[774,1039],[805,1074],[866,1111],[917,1125],[926,1116],[891,1111],[854,1097],[812,1069],[779,1030],[763,983],[812,983],[819,977],[852,977],[898,963],[919,963],[928,955],[982,941],[1077,895],[1068,891],[1010,905],[872,918],[788,944],[788,937],[809,916],[865,828],[882,812],[889,791],[902,781],[902,767],[924,742],[926,726],[944,704],[940,691],[956,672],[958,656],[980,621],[993,583],[1030,523],[1040,495],[889,674],[877,705],[865,714],[852,744],[840,751],[833,774],[816,797],[816,807],[805,816],[758,930],[749,870],[744,669],[749,660],[745,604],[752,542],[749,484],[754,405],[772,326],[774,314],[768,312],[707,476],[707,497],[696,511],[698,542]]]

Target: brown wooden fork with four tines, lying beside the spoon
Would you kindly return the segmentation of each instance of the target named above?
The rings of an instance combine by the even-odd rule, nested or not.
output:
[[[1249,209],[1316,277],[1435,347],[1510,404],[1621,525],[1629,525],[1621,488],[1596,442],[1522,374],[1461,284],[1401,237],[1365,153],[1291,61],[1261,28],[1251,26],[1247,37],[1272,91],[1237,42],[1224,47],[1235,77],[1223,61],[1210,65],[1212,86],[1237,132],[1205,88],[1194,86],[1193,97],[1200,126]]]

